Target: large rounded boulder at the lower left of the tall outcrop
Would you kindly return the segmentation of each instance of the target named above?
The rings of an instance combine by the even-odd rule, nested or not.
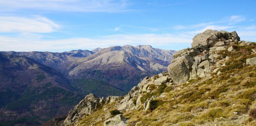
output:
[[[193,62],[192,59],[185,55],[174,59],[174,62],[167,67],[172,81],[176,84],[186,83],[189,80]]]

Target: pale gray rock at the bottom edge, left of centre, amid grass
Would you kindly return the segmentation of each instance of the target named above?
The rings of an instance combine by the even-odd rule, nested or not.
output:
[[[122,114],[116,115],[114,118],[104,121],[104,126],[126,126],[126,119]]]

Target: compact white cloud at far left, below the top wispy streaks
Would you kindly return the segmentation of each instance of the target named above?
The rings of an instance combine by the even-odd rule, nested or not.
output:
[[[50,33],[60,28],[44,17],[0,16],[0,33]]]

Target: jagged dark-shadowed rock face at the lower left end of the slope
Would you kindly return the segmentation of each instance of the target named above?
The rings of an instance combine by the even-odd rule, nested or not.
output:
[[[68,117],[63,122],[62,126],[74,125],[79,118],[83,118],[86,114],[92,114],[93,110],[100,106],[100,98],[93,94],[87,95],[79,102],[72,110],[68,112]]]

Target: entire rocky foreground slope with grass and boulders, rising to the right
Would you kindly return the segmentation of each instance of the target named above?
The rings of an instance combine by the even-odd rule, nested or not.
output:
[[[174,55],[168,72],[145,77],[124,97],[89,100],[98,105],[85,107],[93,112],[74,108],[68,117],[78,118],[62,125],[255,125],[256,43],[206,30],[191,45]]]

